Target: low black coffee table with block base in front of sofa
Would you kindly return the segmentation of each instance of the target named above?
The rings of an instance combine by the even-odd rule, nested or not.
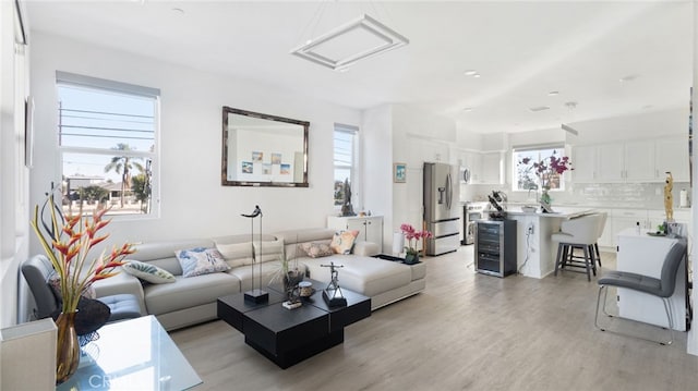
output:
[[[371,316],[371,298],[341,289],[347,306],[328,307],[322,297],[327,284],[313,283],[315,293],[299,308],[281,306],[280,286],[269,286],[268,303],[245,302],[239,293],[218,298],[218,318],[244,334],[244,342],[286,369],[336,346],[345,340],[345,327]]]

